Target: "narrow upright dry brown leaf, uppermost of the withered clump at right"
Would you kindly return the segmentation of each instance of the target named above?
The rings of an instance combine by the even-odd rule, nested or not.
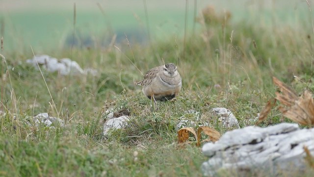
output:
[[[276,99],[280,101],[283,105],[292,106],[295,100],[298,99],[298,95],[290,89],[285,83],[279,81],[277,78],[273,77],[273,82],[279,87],[282,94],[276,92]]]

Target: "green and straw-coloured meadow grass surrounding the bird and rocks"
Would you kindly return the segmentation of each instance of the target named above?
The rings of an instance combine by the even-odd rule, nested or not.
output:
[[[45,70],[42,76],[24,62],[33,55],[28,46],[1,51],[6,62],[2,59],[0,175],[202,176],[200,165],[207,157],[201,148],[176,143],[179,119],[195,118],[186,111],[199,112],[200,122],[223,134],[229,129],[210,114],[211,108],[230,109],[241,127],[253,125],[251,118],[274,96],[272,76],[299,93],[314,89],[309,20],[296,28],[284,23],[275,28],[260,21],[232,23],[225,17],[209,11],[200,18],[196,34],[153,41],[152,46],[46,50],[55,58],[69,57],[83,68],[97,69],[96,76]],[[142,79],[139,70],[144,73],[163,61],[178,63],[183,89],[176,101],[158,102],[154,112],[133,83]],[[108,109],[127,111],[132,120],[126,129],[104,137]],[[65,127],[27,125],[30,117],[43,112],[64,119]],[[288,120],[273,110],[259,126],[281,121]]]

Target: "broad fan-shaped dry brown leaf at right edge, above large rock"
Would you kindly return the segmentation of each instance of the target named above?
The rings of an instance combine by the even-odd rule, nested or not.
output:
[[[295,122],[304,125],[314,124],[314,100],[312,93],[308,90],[299,97],[290,109],[280,108],[283,115]]]

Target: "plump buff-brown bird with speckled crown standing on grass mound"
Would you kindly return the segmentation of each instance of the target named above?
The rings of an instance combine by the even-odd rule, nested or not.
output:
[[[181,88],[182,79],[174,63],[154,67],[146,72],[141,82],[142,92],[154,102],[167,101],[175,98]]]

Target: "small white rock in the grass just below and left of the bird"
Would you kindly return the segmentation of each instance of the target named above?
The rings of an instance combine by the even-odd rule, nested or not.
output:
[[[130,118],[128,116],[121,116],[119,118],[110,118],[105,122],[103,134],[106,135],[112,128],[120,129],[128,125]]]

